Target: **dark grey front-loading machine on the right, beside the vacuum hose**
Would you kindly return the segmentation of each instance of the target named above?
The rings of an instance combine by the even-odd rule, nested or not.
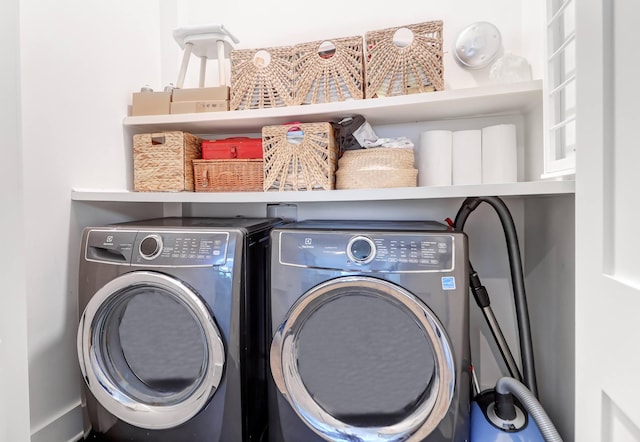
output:
[[[465,234],[320,220],[271,242],[270,441],[468,441]]]

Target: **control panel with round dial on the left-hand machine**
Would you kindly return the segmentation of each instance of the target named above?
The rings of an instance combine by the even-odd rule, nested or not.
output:
[[[153,267],[223,265],[229,233],[197,231],[91,230],[85,259]]]

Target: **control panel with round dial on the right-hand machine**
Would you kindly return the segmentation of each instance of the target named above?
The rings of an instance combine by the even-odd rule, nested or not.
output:
[[[280,263],[379,272],[449,272],[454,236],[442,233],[279,232]]]

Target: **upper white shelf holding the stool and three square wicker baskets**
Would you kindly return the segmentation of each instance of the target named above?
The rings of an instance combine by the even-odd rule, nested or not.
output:
[[[371,125],[447,120],[523,112],[541,103],[542,81],[453,89],[397,97],[313,105],[125,117],[134,132],[181,130],[193,134],[260,132],[289,121],[318,122],[359,114]]]

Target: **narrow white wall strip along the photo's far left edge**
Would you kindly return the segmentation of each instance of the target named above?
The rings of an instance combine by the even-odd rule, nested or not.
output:
[[[0,442],[29,440],[18,5],[0,2]]]

